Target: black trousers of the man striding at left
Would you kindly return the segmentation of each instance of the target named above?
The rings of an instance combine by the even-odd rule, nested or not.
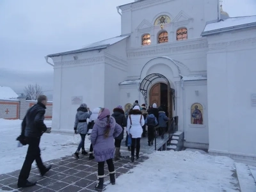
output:
[[[42,162],[39,148],[40,138],[26,138],[26,142],[28,143],[28,152],[26,155],[26,159],[23,163],[23,166],[20,170],[18,180],[20,184],[26,182],[26,180],[28,179],[31,170],[31,165],[34,161],[36,161],[36,165],[38,166],[38,169],[41,173],[44,172],[45,170],[45,166]]]

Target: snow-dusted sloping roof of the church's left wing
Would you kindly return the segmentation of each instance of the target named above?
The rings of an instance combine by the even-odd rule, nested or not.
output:
[[[52,58],[52,57],[61,56],[61,55],[65,55],[65,54],[74,54],[77,52],[86,52],[86,51],[93,51],[93,50],[97,50],[97,49],[105,49],[109,45],[116,44],[117,42],[120,42],[121,40],[123,40],[127,37],[128,36],[116,36],[113,38],[102,40],[100,42],[95,42],[93,44],[84,45],[84,47],[81,49],[76,49],[73,51],[66,51],[66,52],[58,52],[55,54],[49,54],[49,55],[47,55],[47,57]]]

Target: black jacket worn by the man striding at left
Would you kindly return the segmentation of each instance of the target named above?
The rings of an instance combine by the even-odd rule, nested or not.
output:
[[[28,109],[21,125],[21,136],[40,138],[47,131],[44,124],[45,105],[38,102],[33,107]]]

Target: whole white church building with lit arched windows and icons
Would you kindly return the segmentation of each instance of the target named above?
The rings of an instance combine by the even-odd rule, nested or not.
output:
[[[179,116],[185,147],[256,161],[256,16],[230,18],[218,0],[116,8],[120,36],[45,57],[54,66],[52,129],[73,131],[81,102],[156,102]]]

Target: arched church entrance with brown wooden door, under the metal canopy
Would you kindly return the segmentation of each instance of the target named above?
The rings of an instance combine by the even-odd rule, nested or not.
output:
[[[163,108],[167,116],[172,116],[172,110],[170,110],[171,114],[168,110],[168,85],[166,83],[156,83],[150,88],[149,104],[154,103],[157,104],[157,107]],[[172,109],[172,102],[170,108]]]

